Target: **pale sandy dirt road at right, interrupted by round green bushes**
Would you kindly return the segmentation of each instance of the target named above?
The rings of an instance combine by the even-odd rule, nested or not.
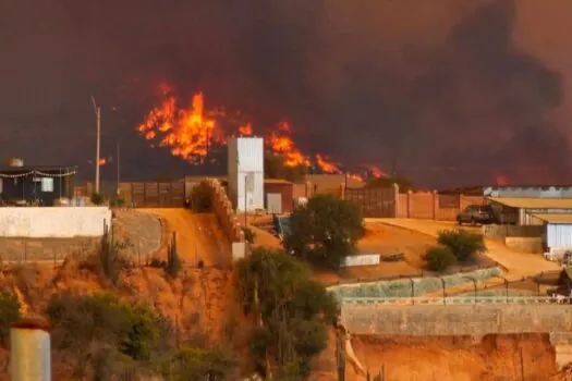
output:
[[[400,226],[424,233],[436,237],[441,230],[453,229],[454,222],[431,221],[431,220],[413,220],[413,219],[367,219],[393,226]],[[547,261],[537,254],[523,254],[513,251],[500,243],[486,239],[486,255],[502,265],[507,271],[509,280],[521,279],[523,276],[535,275],[541,271],[559,270],[560,267]]]

